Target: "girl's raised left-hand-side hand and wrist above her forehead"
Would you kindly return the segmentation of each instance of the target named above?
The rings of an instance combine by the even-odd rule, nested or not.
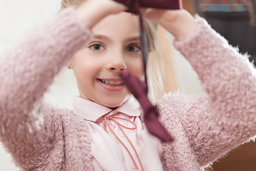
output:
[[[77,8],[75,16],[78,22],[92,29],[105,16],[127,9],[128,7],[112,0],[88,0]]]

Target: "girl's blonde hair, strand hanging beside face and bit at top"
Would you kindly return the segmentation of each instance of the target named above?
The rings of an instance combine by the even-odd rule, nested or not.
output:
[[[62,0],[61,9],[73,6],[78,8],[87,0]],[[158,100],[164,94],[164,65],[161,46],[157,36],[157,24],[143,18],[143,26],[148,41],[147,79],[149,96],[152,101]]]

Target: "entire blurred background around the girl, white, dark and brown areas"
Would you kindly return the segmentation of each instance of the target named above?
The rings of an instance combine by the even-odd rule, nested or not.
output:
[[[0,60],[6,49],[11,48],[17,39],[56,16],[60,3],[61,0],[0,0]],[[243,53],[248,51],[252,56],[256,49],[254,6],[254,0],[183,0],[183,7],[191,14],[196,12],[204,16],[212,27],[230,39],[233,46],[239,45]],[[165,61],[166,91],[179,90],[187,95],[204,93],[197,74],[173,48],[172,36],[161,27],[158,34]],[[73,71],[63,68],[44,97],[59,108],[73,109],[74,95],[78,95],[78,90]],[[225,159],[215,162],[212,168],[215,171],[256,170],[255,157],[256,146],[252,142],[234,149]],[[0,144],[0,171],[2,170],[18,169],[11,163],[10,155]]]

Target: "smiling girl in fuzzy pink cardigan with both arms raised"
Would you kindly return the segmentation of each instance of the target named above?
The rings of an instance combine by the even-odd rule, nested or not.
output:
[[[138,17],[110,0],[62,5],[77,8],[35,29],[1,62],[0,140],[20,168],[200,170],[256,134],[255,70],[204,19],[184,10],[142,9],[176,37],[174,46],[207,92],[158,101],[159,119],[175,139],[162,143],[147,132],[119,77],[125,70],[143,76]],[[41,100],[65,65],[80,93],[74,111]]]

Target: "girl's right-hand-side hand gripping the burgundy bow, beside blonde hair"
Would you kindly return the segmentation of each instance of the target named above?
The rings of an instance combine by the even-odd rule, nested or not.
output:
[[[141,8],[141,14],[144,18],[161,25],[176,38],[185,38],[197,28],[197,23],[193,16],[184,9]]]

